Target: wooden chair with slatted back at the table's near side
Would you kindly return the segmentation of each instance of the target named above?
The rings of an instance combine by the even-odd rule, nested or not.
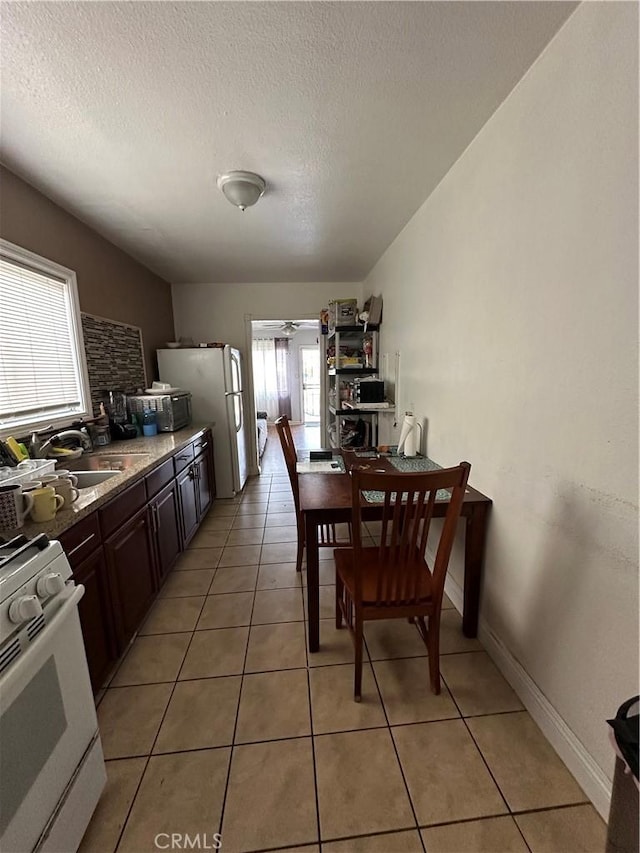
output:
[[[334,554],[336,628],[342,628],[344,620],[354,641],[356,702],[362,691],[363,626],[370,619],[415,622],[429,654],[431,689],[440,693],[444,580],[470,468],[468,462],[461,462],[455,468],[425,474],[367,473],[357,468],[351,472],[353,546],[338,548]],[[439,489],[450,490],[451,499],[442,528],[429,543],[435,553],[431,568],[426,546]],[[380,543],[373,547],[362,546],[362,508],[367,504],[363,492],[367,491],[384,493]]]

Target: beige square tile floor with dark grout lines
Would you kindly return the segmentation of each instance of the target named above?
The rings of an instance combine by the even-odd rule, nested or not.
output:
[[[375,623],[356,704],[326,549],[308,653],[273,434],[263,462],[215,503],[100,697],[108,783],[82,853],[184,849],[171,833],[220,833],[223,853],[602,851],[604,823],[449,601],[442,694],[415,629]]]

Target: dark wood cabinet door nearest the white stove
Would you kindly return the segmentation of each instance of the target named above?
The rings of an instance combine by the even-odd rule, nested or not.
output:
[[[73,579],[77,584],[84,586],[84,595],[78,604],[78,613],[91,686],[93,692],[97,693],[117,659],[111,622],[112,609],[107,581],[107,564],[102,548],[98,548],[74,569]]]

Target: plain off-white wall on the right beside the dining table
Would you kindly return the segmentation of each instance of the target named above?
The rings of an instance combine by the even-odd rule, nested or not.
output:
[[[494,501],[485,629],[605,791],[638,692],[637,33],[578,7],[364,282],[429,455]]]

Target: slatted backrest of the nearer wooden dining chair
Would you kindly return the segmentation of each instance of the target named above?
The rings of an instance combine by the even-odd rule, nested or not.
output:
[[[420,474],[369,473],[354,468],[352,474],[353,545],[356,595],[362,590],[360,567],[363,560],[362,507],[364,492],[383,492],[380,543],[376,554],[376,604],[381,607],[410,605],[421,594],[427,541],[431,530],[437,492],[447,489],[451,498],[435,548],[431,572],[432,595],[441,598],[444,577],[453,547],[455,530],[470,465],[461,462],[455,468]],[[369,552],[371,553],[371,551]],[[370,568],[370,564],[369,564]]]

